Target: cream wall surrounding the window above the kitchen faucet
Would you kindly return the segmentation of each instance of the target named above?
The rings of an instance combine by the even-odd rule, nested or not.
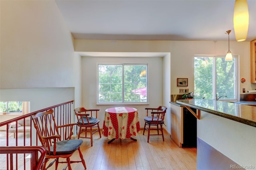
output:
[[[171,67],[172,67],[172,94],[178,94],[176,86],[177,77],[188,77],[188,89],[194,90],[194,55],[226,55],[228,42],[211,41],[173,41],[171,45]],[[230,42],[232,54],[239,55],[239,92],[242,88],[255,89],[256,83],[250,83],[250,42]],[[246,83],[241,83],[240,79],[245,78]]]

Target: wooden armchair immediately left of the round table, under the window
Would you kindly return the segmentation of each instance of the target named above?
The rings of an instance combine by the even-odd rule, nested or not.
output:
[[[92,135],[96,132],[100,134],[100,120],[97,119],[98,111],[100,109],[85,109],[84,107],[78,107],[74,109],[77,120],[78,120],[78,139],[79,138],[90,138],[92,146]],[[81,133],[85,133],[84,136],[80,136]],[[90,137],[87,137],[87,133],[90,133]],[[101,138],[101,134],[100,134]]]

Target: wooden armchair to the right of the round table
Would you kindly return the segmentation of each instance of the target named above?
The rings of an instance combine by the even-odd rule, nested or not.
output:
[[[153,136],[153,135],[162,135],[163,141],[164,141],[163,124],[164,124],[164,116],[165,116],[167,107],[159,106],[158,108],[145,108],[145,109],[147,110],[147,115],[146,117],[144,117],[145,125],[144,125],[143,135],[145,130],[147,130],[148,142],[149,142],[149,136]],[[157,130],[157,134],[150,134],[150,130]],[[161,131],[161,134],[159,134],[159,131]]]

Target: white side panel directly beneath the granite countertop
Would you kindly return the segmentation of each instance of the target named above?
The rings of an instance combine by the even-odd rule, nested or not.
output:
[[[240,166],[256,167],[255,127],[201,111],[197,137]]]

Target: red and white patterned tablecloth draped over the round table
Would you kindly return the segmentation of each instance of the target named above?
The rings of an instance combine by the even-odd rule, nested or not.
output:
[[[108,139],[130,139],[140,132],[137,109],[133,107],[113,107],[106,109],[102,134]]]

